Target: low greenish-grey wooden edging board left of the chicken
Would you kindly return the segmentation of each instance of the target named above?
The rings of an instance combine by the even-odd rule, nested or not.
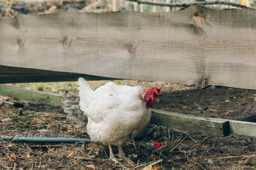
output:
[[[49,92],[42,92],[38,90],[29,90],[20,87],[10,87],[6,85],[0,85],[0,95],[13,97],[16,99],[22,99],[27,101],[33,101],[37,103],[45,103],[54,106],[62,106],[61,95],[53,94]]]

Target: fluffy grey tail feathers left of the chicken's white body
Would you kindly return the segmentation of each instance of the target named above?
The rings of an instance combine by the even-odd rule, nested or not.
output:
[[[62,103],[64,104],[64,112],[67,113],[67,118],[76,122],[76,127],[81,128],[86,132],[87,117],[79,106],[80,97],[74,92],[67,92],[63,95]]]

